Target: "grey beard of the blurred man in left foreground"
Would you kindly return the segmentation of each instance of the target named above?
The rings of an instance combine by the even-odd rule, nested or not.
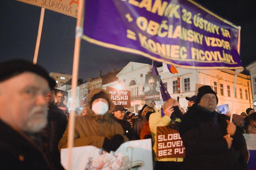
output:
[[[40,112],[40,113],[38,113]],[[28,115],[28,120],[24,125],[25,132],[36,133],[47,124],[48,110],[47,106],[34,107]]]

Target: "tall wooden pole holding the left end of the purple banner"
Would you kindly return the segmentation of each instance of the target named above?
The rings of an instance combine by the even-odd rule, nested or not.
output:
[[[80,44],[81,37],[83,35],[82,25],[82,15],[84,9],[84,0],[80,0],[78,3],[78,13],[76,20],[76,38],[75,38],[75,47],[74,47],[74,58],[73,58],[73,70],[72,70],[72,82],[71,82],[71,111],[69,114],[68,122],[68,170],[71,170],[71,161],[72,161],[72,147],[74,146],[74,131],[75,131],[75,97],[76,97],[76,87],[78,79],[78,68],[79,68],[79,55],[80,55]]]

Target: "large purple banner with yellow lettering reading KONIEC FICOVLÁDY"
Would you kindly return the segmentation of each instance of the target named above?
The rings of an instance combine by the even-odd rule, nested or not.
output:
[[[243,68],[239,27],[191,0],[86,0],[88,42],[192,69]]]

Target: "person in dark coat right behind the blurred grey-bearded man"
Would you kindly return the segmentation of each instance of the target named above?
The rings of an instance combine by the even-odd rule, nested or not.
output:
[[[40,131],[44,147],[51,153],[54,164],[58,169],[63,169],[60,164],[60,152],[58,144],[64,134],[68,120],[66,115],[54,104],[54,91],[51,90],[46,95],[48,103],[48,122],[44,129]]]

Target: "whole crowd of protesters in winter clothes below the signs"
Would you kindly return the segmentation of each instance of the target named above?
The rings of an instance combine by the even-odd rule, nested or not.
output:
[[[60,149],[67,148],[68,109],[63,94],[52,91],[55,84],[43,68],[30,62],[0,64],[1,169],[63,169]],[[210,86],[186,99],[187,112],[177,100],[168,99],[160,110],[148,100],[134,114],[114,105],[106,90],[93,89],[75,119],[74,147],[93,145],[110,152],[128,140],[152,139],[155,169],[247,169],[243,133],[256,134],[256,112],[248,108],[229,122],[228,115],[215,111],[218,97]],[[156,157],[160,126],[179,131],[185,158]]]

